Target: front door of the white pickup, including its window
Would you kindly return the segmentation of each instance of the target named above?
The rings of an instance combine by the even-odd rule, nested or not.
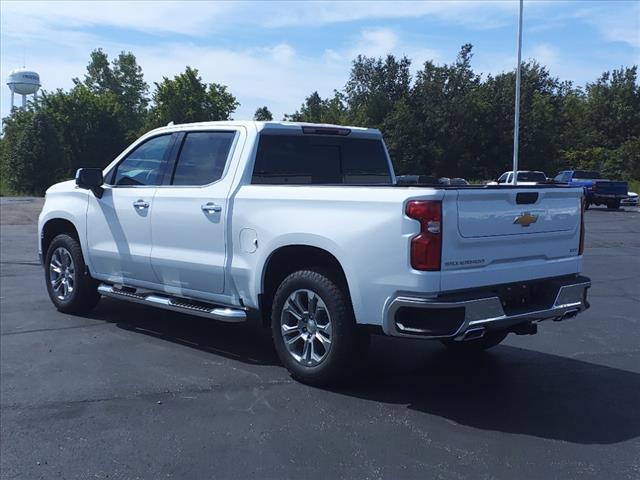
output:
[[[142,142],[106,175],[102,197],[89,196],[88,254],[98,278],[157,282],[150,261],[151,213],[173,140],[172,134],[164,134]]]

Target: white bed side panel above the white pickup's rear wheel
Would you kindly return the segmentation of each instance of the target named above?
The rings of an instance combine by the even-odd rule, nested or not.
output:
[[[418,272],[409,264],[409,239],[418,222],[404,215],[409,197],[440,199],[442,191],[396,187],[246,185],[234,200],[232,278],[239,295],[257,308],[270,255],[287,245],[308,245],[331,253],[341,264],[359,323],[381,324],[387,299],[397,291],[435,294],[439,272]],[[242,248],[253,230],[255,252]]]

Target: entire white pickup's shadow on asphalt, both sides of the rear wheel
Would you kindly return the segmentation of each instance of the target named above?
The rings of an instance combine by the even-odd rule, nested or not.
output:
[[[112,301],[101,303],[94,318],[243,363],[283,368],[268,329],[157,312]],[[460,356],[438,342],[376,336],[356,378],[327,392],[407,405],[482,430],[578,444],[640,436],[640,374],[511,346]]]

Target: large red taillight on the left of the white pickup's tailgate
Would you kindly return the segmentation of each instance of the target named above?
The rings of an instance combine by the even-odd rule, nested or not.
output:
[[[411,200],[406,214],[420,222],[420,233],[411,239],[411,266],[416,270],[440,270],[442,202]]]

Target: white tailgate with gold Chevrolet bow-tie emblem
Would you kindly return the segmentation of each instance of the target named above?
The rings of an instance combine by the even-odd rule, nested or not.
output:
[[[447,191],[442,290],[578,273],[582,188]]]

